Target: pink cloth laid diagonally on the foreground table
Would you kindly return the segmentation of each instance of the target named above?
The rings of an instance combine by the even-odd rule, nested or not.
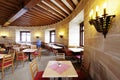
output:
[[[58,63],[54,63],[52,65],[49,66],[51,69],[55,70],[57,73],[61,74],[63,73],[65,70],[67,70],[70,66],[64,63],[61,63],[61,66],[58,65]]]

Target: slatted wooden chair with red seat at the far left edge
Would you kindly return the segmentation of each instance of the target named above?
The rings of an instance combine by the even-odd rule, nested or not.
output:
[[[12,67],[12,72],[14,72],[14,55],[6,55],[3,57],[2,62],[0,62],[0,69],[2,70],[2,78],[4,78],[4,70],[8,67]]]

